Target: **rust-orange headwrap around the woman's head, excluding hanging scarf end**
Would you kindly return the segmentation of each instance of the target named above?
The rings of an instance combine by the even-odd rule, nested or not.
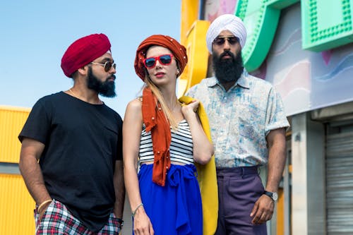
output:
[[[143,40],[136,51],[135,71],[142,80],[145,80],[145,66],[143,65],[143,59],[145,59],[148,48],[152,46],[162,46],[169,49],[179,63],[180,74],[183,73],[184,68],[188,63],[185,47],[179,44],[177,40],[174,40],[174,38],[167,35],[152,35]]]

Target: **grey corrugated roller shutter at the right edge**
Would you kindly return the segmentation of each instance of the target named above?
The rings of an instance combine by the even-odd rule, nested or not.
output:
[[[337,131],[338,130],[338,131]],[[335,127],[326,137],[328,234],[353,234],[353,131]]]

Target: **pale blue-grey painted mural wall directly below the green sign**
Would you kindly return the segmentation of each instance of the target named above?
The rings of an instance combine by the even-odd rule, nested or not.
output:
[[[265,80],[273,83],[287,115],[353,100],[353,45],[324,52],[302,49],[300,5],[282,11],[265,60]]]

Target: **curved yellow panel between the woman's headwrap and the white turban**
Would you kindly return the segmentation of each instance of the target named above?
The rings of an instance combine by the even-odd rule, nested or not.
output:
[[[189,61],[179,78],[178,97],[184,95],[191,86],[200,83],[207,75],[209,53],[206,46],[206,32],[208,26],[210,26],[209,21],[196,20],[187,33],[184,46]]]

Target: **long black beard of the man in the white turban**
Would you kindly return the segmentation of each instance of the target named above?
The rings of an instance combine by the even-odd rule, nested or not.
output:
[[[222,59],[223,56],[229,55],[231,59]],[[237,82],[240,78],[241,73],[243,73],[243,59],[241,54],[234,56],[232,52],[225,51],[220,56],[217,54],[212,55],[213,70],[215,71],[215,76],[217,80],[223,83]]]

